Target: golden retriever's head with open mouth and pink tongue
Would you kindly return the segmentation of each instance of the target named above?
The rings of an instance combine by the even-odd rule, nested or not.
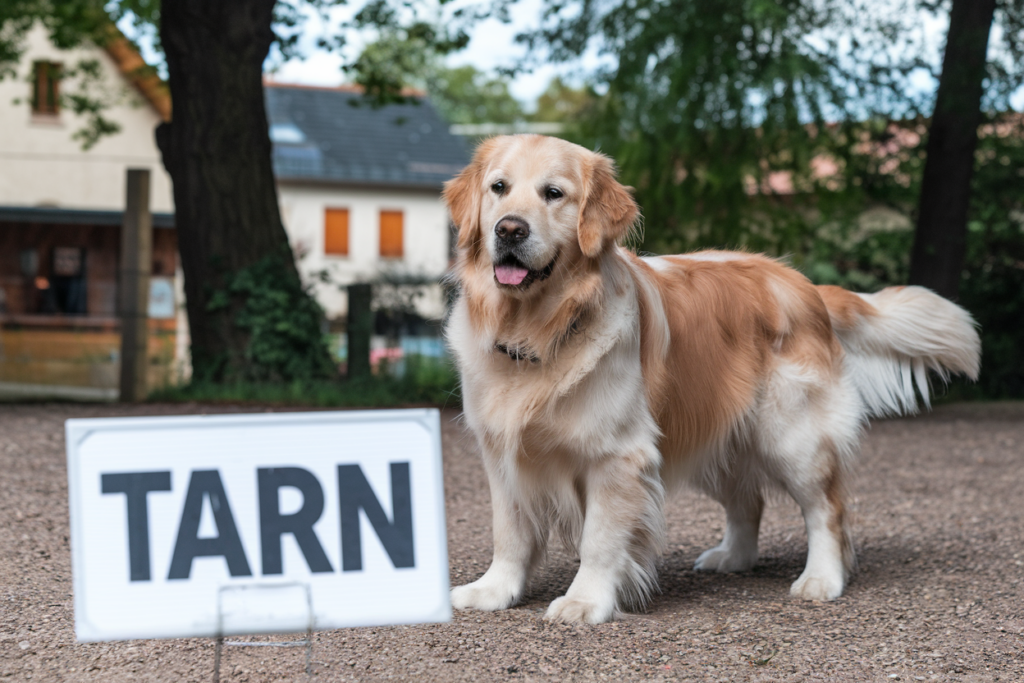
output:
[[[483,141],[444,202],[462,258],[489,262],[509,293],[546,280],[560,259],[597,258],[638,216],[610,159],[542,135]]]

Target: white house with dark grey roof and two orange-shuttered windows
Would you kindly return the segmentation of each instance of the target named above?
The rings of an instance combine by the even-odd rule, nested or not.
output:
[[[440,190],[468,154],[429,100],[375,109],[353,87],[265,90],[282,218],[328,317],[344,317],[351,283],[436,283],[453,240]],[[440,317],[438,286],[418,312]]]

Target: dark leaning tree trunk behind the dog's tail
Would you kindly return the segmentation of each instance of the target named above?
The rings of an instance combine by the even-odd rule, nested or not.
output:
[[[995,0],[953,0],[928,158],[918,202],[910,284],[948,299],[959,291],[985,54]]]

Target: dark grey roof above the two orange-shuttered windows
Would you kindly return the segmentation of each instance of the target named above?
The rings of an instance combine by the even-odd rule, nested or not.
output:
[[[279,180],[439,189],[469,161],[426,97],[373,109],[340,88],[264,91]]]

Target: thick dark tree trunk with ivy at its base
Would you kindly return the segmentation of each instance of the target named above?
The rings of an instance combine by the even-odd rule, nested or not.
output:
[[[296,379],[331,369],[319,309],[302,290],[278,208],[262,75],[273,5],[163,0],[161,8],[173,115],[157,142],[174,182],[200,381]]]

